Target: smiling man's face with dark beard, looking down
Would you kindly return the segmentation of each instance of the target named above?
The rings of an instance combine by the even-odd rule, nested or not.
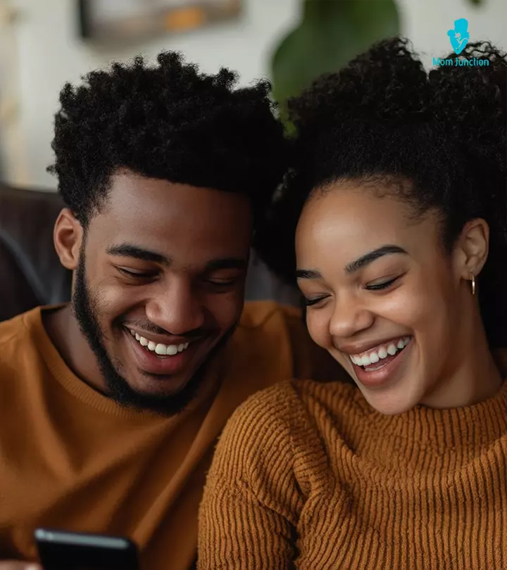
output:
[[[164,414],[195,395],[244,303],[243,196],[129,172],[80,245],[73,311],[112,398]]]

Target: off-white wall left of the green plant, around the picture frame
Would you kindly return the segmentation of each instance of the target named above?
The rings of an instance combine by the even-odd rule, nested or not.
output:
[[[225,65],[239,70],[242,83],[248,83],[266,74],[270,50],[299,18],[298,0],[245,0],[239,21],[168,35],[115,52],[98,51],[78,39],[73,0],[13,0],[12,4],[20,11],[16,25],[18,121],[25,169],[22,177],[11,177],[11,182],[49,187],[56,184],[46,172],[52,161],[53,115],[58,108],[58,92],[66,81],[77,82],[89,70],[113,60],[128,60],[137,53],[152,59],[161,49],[177,49],[205,72],[216,72]]]

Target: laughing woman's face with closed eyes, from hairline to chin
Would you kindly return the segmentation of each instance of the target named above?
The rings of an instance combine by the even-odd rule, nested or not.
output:
[[[380,412],[425,403],[463,364],[470,284],[434,212],[414,220],[395,196],[339,182],[306,203],[296,256],[313,340]]]

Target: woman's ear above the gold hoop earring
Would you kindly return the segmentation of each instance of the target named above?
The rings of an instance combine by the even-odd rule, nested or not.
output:
[[[454,249],[455,267],[458,277],[470,280],[482,271],[489,252],[489,225],[486,220],[469,220]]]

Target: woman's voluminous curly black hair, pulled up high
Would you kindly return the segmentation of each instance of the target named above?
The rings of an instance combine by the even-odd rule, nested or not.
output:
[[[482,217],[491,232],[482,317],[490,343],[507,346],[507,58],[489,42],[468,44],[460,58],[489,65],[428,73],[406,39],[384,40],[289,101],[292,169],[255,246],[294,284],[303,205],[339,179],[388,182],[415,215],[437,210],[447,252],[465,222]]]

